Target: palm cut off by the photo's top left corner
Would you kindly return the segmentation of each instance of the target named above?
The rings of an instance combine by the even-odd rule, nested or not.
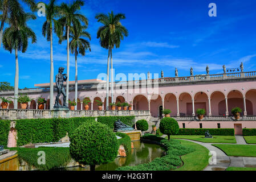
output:
[[[24,3],[29,5],[31,10],[36,9],[36,3],[34,0],[22,0]],[[5,26],[6,20],[8,19],[8,16],[15,14],[15,11],[18,11],[18,9],[22,9],[22,7],[19,5],[18,0],[0,0],[0,11],[2,11],[2,17],[1,17],[1,26],[0,26],[0,48],[3,38],[3,27]]]

